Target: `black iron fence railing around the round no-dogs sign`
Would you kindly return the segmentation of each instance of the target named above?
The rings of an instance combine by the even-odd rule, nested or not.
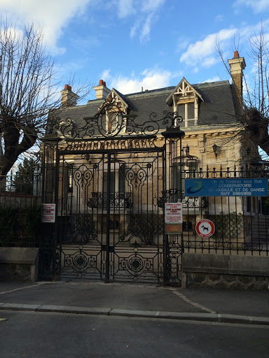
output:
[[[184,173],[189,178],[189,173]],[[226,171],[216,169],[192,172],[194,179],[249,179],[259,182],[259,178],[269,178],[267,169],[234,169]],[[263,180],[263,183],[266,180]],[[235,181],[236,183],[236,181]],[[255,189],[258,190],[258,189]],[[257,191],[258,193],[258,191]],[[193,197],[194,198],[194,197]],[[205,196],[206,205],[200,208],[183,208],[184,217],[184,251],[219,253],[228,255],[261,255],[269,253],[269,197],[268,188],[265,195],[258,196]],[[209,237],[198,235],[195,225],[201,219],[214,224],[214,234]]]

